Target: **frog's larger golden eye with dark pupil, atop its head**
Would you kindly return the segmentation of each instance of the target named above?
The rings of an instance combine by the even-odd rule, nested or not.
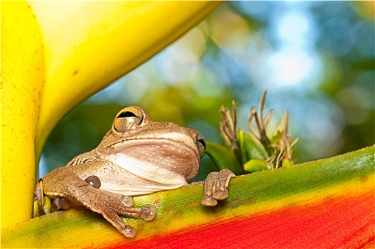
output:
[[[126,107],[116,115],[113,127],[116,132],[135,129],[143,121],[143,112],[138,107]]]

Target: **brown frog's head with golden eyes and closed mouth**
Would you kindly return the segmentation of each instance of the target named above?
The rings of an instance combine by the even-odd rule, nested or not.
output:
[[[205,155],[205,139],[195,129],[155,122],[145,110],[131,106],[117,113],[98,149],[183,174],[190,181]]]

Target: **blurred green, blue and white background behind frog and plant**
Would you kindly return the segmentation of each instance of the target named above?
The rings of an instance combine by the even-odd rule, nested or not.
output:
[[[96,147],[122,107],[138,105],[153,120],[222,142],[219,107],[235,100],[238,126],[247,130],[263,90],[266,109],[277,111],[271,128],[290,112],[297,162],[374,144],[374,37],[373,1],[225,2],[61,120],[45,144],[40,176]],[[202,164],[198,179],[214,170],[206,157]]]

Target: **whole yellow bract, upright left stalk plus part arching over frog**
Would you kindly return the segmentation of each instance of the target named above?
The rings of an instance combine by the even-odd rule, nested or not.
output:
[[[3,228],[31,218],[36,161],[55,124],[219,4],[1,1]]]

